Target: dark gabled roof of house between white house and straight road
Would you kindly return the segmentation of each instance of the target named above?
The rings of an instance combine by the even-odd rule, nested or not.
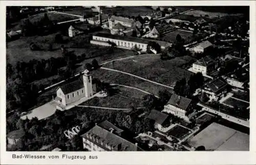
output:
[[[222,89],[225,89],[226,86],[227,86],[227,82],[222,78],[212,80],[204,85],[204,87],[208,88],[208,90],[214,93],[218,93]]]

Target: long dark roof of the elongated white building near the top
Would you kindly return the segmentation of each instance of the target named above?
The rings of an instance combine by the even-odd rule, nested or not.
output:
[[[94,36],[104,37],[104,38],[112,38],[112,39],[118,39],[118,40],[123,40],[123,41],[130,41],[130,42],[137,42],[137,43],[144,43],[144,44],[148,44],[148,42],[152,41],[152,42],[157,42],[162,47],[167,47],[167,46],[172,45],[172,43],[165,42],[165,41],[137,38],[137,37],[129,37],[129,36],[111,35],[111,34],[105,34],[105,33],[97,33]]]

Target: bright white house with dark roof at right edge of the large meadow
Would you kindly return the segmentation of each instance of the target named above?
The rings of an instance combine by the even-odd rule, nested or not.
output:
[[[217,64],[210,57],[206,56],[193,63],[193,70],[201,72],[203,75],[209,75],[217,69]]]

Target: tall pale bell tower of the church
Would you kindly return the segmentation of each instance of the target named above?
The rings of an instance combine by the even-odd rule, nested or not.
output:
[[[83,72],[83,86],[84,86],[84,93],[87,98],[93,96],[93,84],[92,84],[92,76],[90,75],[89,70],[84,70]]]

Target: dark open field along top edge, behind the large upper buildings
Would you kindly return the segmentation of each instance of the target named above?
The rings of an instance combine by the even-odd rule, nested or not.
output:
[[[104,14],[111,14],[113,15],[116,13],[117,15],[124,15],[124,16],[144,16],[145,14],[151,14],[154,11],[151,7],[146,6],[122,6],[122,7],[115,7],[115,8],[105,8],[102,10]]]

